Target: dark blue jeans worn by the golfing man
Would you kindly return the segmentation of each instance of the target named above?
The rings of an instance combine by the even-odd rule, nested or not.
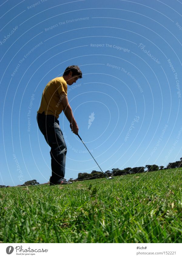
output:
[[[59,121],[54,115],[37,113],[37,123],[46,142],[51,147],[52,176],[50,185],[58,184],[65,176],[66,143],[59,127]]]

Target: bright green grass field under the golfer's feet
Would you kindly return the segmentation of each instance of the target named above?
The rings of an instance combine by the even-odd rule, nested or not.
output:
[[[1,243],[181,243],[182,168],[0,189]]]

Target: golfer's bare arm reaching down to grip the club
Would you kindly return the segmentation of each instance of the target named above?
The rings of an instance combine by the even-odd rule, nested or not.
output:
[[[68,121],[70,122],[70,127],[71,127],[72,131],[75,134],[77,134],[78,133],[78,126],[77,126],[76,120],[74,119],[72,109],[69,105],[68,97],[66,96],[66,94],[64,92],[62,92],[59,95],[59,97],[60,97],[60,101],[61,101],[62,106],[63,106],[63,112],[65,113]]]

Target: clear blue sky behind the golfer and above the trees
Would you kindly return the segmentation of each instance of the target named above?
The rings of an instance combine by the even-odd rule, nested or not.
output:
[[[72,64],[83,78],[68,86],[69,103],[104,171],[180,160],[181,9],[176,0],[1,1],[0,184],[49,181],[36,112],[45,85]],[[99,171],[63,113],[59,123],[65,177]]]

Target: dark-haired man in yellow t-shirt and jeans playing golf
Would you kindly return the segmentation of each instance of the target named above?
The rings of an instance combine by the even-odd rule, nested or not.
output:
[[[37,111],[39,129],[51,147],[50,185],[64,184],[67,148],[58,121],[62,111],[70,122],[72,132],[76,135],[78,133],[78,126],[67,98],[67,84],[72,85],[79,78],[82,78],[81,70],[78,66],[72,65],[66,68],[62,77],[49,81],[42,93],[40,108]]]

